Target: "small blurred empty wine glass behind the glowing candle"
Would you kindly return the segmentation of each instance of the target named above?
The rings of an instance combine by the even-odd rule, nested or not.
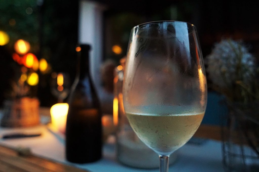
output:
[[[58,103],[63,103],[70,90],[70,78],[67,73],[51,74],[51,93],[57,98]]]

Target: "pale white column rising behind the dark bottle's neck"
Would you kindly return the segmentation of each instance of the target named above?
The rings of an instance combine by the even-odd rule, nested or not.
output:
[[[100,65],[103,56],[103,11],[99,3],[81,0],[79,2],[78,42],[90,44],[90,72],[97,91],[101,88]]]

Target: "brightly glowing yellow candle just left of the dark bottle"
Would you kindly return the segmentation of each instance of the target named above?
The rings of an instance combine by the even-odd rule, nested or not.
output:
[[[50,109],[51,124],[54,130],[65,133],[67,122],[68,104],[57,103]]]

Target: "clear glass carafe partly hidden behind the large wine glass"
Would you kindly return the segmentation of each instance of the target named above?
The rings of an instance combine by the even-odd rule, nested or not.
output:
[[[132,130],[124,112],[122,84],[125,68],[125,58],[114,70],[114,104],[113,115],[116,130],[116,156],[117,160],[134,168],[159,168],[157,153],[146,146]],[[144,158],[143,158],[143,155]],[[172,164],[176,160],[176,153],[170,155]]]

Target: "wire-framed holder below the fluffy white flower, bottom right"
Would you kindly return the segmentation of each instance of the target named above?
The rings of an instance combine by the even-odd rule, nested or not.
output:
[[[229,104],[222,126],[223,164],[227,172],[259,171],[259,103]]]

